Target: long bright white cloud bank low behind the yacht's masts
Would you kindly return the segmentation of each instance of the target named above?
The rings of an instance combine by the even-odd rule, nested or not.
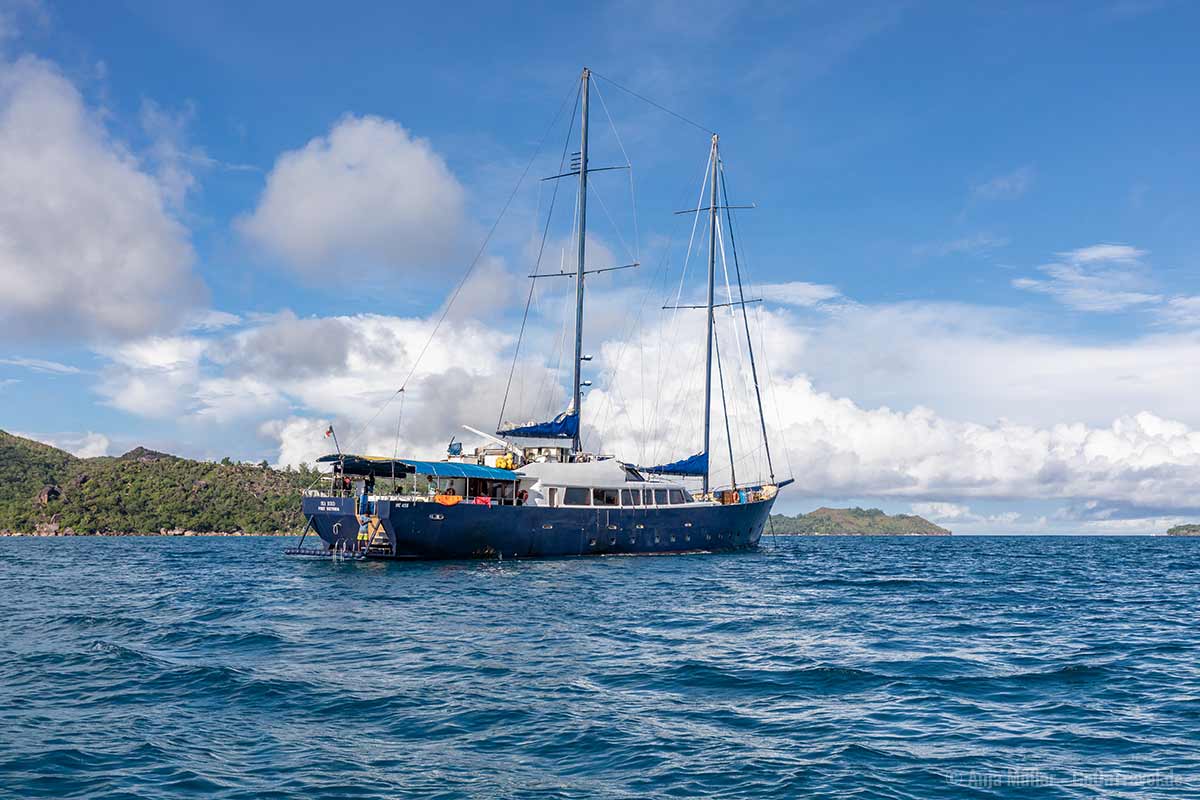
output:
[[[620,303],[629,306],[607,305]],[[1200,480],[1200,416],[1189,402],[1200,378],[1186,366],[1200,359],[1200,337],[1091,347],[1031,333],[1027,319],[1007,312],[953,305],[848,306],[803,321],[781,306],[755,318],[775,470],[797,477],[792,497],[949,504],[926,510],[955,525],[1031,530],[1045,523],[971,505],[1094,500],[1156,515],[1200,505],[1188,488]],[[205,336],[131,342],[108,351],[101,389],[133,413],[252,423],[281,464],[325,452],[331,422],[343,447],[436,457],[462,435],[460,425],[496,423],[512,338],[448,320],[397,397],[432,324],[281,313]],[[557,320],[535,315],[530,326],[535,344],[518,363],[505,415],[514,421],[548,419],[566,397],[569,371],[544,347],[558,343]],[[588,446],[643,464],[700,449],[702,327],[701,314],[668,312],[632,329],[592,330]],[[764,477],[739,315],[724,309],[718,331],[738,477]],[[715,402],[720,482],[728,457]]]

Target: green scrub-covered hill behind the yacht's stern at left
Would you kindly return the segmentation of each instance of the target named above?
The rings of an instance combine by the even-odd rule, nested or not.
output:
[[[265,464],[265,462],[264,462]],[[138,447],[76,458],[0,431],[0,531],[294,531],[314,474],[176,458]]]

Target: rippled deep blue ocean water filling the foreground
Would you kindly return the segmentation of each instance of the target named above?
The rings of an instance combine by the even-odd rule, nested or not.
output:
[[[1200,796],[1200,539],[0,540],[0,798]]]

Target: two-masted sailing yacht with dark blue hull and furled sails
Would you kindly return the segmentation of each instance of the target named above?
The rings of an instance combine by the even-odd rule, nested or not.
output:
[[[749,321],[745,321],[746,344],[770,480],[739,486],[734,479],[731,486],[709,486],[716,237],[722,224],[720,211],[728,215],[730,207],[727,198],[722,205],[718,193],[720,158],[715,134],[709,154],[712,174],[707,176],[709,205],[697,209],[697,213],[707,212],[709,228],[707,302],[698,306],[708,315],[701,450],[670,464],[643,468],[614,456],[586,452],[582,446],[581,401],[587,385],[582,367],[589,357],[583,354],[584,289],[589,273],[605,270],[584,266],[588,173],[595,172],[588,167],[592,72],[583,70],[580,80],[580,152],[566,173],[578,178],[570,407],[553,420],[509,426],[494,437],[473,429],[488,444],[470,452],[458,443],[451,444],[443,461],[341,451],[322,457],[319,461],[331,467],[328,485],[305,493],[305,537],[289,553],[355,559],[512,559],[736,551],[757,546],[778,491],[791,480],[776,481],[770,467]],[[721,305],[740,305],[746,320],[745,302],[731,296],[728,303]],[[528,444],[530,440],[535,444]],[[698,492],[684,483],[689,477],[700,479]],[[390,491],[377,492],[377,481],[390,486]],[[310,531],[322,540],[322,546],[304,546]]]

